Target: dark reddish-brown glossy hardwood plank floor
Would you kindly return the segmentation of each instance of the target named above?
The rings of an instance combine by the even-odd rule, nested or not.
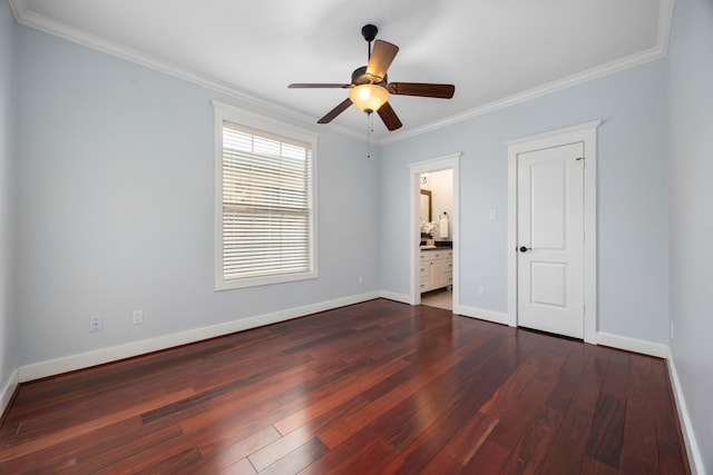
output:
[[[371,300],[20,386],[0,473],[685,474],[665,362]]]

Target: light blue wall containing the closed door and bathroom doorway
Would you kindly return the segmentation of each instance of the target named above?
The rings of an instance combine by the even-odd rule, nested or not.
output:
[[[460,304],[507,311],[504,142],[602,120],[598,330],[666,343],[667,113],[666,62],[658,60],[384,146],[380,164],[382,288],[409,294],[408,165],[461,151]],[[490,209],[498,211],[499,220],[489,220]],[[486,297],[478,297],[479,286],[487,289]]]

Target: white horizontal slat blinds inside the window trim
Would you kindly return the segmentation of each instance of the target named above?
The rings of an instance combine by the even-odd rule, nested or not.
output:
[[[223,281],[312,273],[312,146],[228,121],[222,136]]]

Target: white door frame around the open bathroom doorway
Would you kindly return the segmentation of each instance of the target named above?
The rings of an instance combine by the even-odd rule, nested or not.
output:
[[[421,202],[421,185],[419,176],[421,174],[428,174],[433,171],[453,170],[453,216],[451,217],[452,227],[452,243],[453,243],[453,314],[460,311],[460,156],[461,152],[455,152],[445,155],[437,158],[431,158],[414,164],[409,164],[409,181],[410,189],[410,208],[411,218],[409,219],[409,241],[410,246],[410,280],[411,280],[411,295],[410,304],[419,305],[421,303],[421,293],[419,291],[419,271],[418,264],[420,263],[420,243],[421,243],[421,229],[420,229],[420,202]]]

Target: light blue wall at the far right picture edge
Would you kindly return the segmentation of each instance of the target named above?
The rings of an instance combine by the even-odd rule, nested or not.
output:
[[[671,348],[703,473],[713,473],[713,2],[676,1],[668,65]]]

